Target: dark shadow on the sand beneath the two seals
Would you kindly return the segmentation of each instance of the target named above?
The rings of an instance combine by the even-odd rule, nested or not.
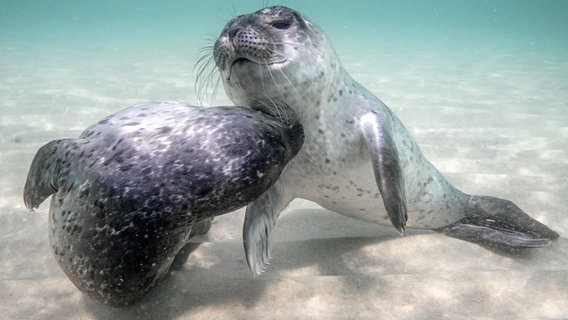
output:
[[[344,222],[337,224],[337,220],[328,219],[329,221],[324,223],[324,230],[331,232],[328,234],[331,238],[319,238],[320,236],[314,233],[314,230],[318,229],[316,221],[312,221],[314,212],[316,220],[321,220],[322,215],[348,220],[347,228]],[[218,218],[221,220],[223,217]],[[241,221],[242,219],[239,223]],[[277,235],[274,252],[278,260],[274,260],[273,269],[261,276],[255,277],[250,272],[240,239],[215,242],[207,235],[197,236],[179,252],[168,274],[140,301],[124,308],[113,308],[84,297],[85,308],[97,319],[171,319],[204,308],[230,305],[253,308],[263,300],[263,296],[269,294],[267,288],[270,284],[279,279],[294,277],[298,270],[304,268],[311,269],[311,275],[314,277],[356,275],[358,278],[366,278],[364,273],[351,270],[343,263],[341,256],[383,240],[398,238],[394,233],[383,238],[365,236],[372,233],[373,228],[365,228],[365,224],[340,215],[330,215],[329,211],[323,209],[291,210],[290,215],[284,217],[280,223],[281,232],[287,233],[287,240],[281,241]],[[309,227],[298,228],[298,225]],[[367,229],[362,230],[362,237],[352,236],[357,226]],[[240,225],[234,227],[239,230],[241,228]],[[349,232],[345,232],[346,230]],[[324,234],[321,231],[319,233]],[[307,236],[316,238],[306,239]],[[350,286],[349,283],[346,285]],[[357,284],[357,289],[362,289],[361,283]]]

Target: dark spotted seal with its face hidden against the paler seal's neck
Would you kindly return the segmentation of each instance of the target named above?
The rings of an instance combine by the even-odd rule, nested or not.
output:
[[[75,286],[128,305],[166,274],[190,233],[262,195],[303,131],[293,117],[253,109],[142,103],[41,147],[24,201],[33,210],[53,194],[51,248]]]

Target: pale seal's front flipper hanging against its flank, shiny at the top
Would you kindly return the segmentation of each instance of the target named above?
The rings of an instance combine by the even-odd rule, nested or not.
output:
[[[387,119],[390,117],[380,117],[377,113],[370,112],[361,117],[360,126],[371,154],[375,180],[385,209],[393,226],[402,233],[408,219],[404,176],[393,140],[392,127]]]

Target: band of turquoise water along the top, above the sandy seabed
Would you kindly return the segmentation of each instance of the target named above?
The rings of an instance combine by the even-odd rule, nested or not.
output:
[[[332,39],[384,48],[568,52],[568,3],[558,1],[268,1],[317,21]],[[3,1],[4,46],[186,42],[216,35],[262,1]],[[191,45],[187,43],[187,45]],[[359,44],[360,45],[360,44]]]

